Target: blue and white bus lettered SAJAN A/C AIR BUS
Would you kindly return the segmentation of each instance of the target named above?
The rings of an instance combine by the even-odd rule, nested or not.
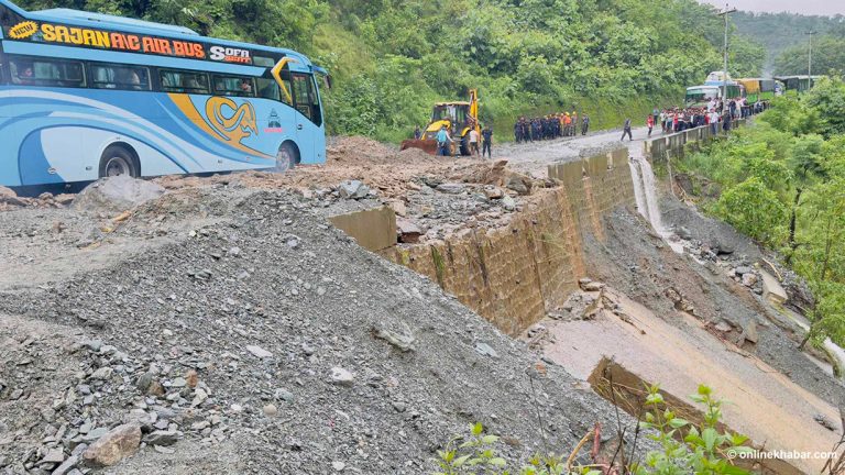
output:
[[[0,0],[0,185],[325,162],[316,77],[289,49]]]

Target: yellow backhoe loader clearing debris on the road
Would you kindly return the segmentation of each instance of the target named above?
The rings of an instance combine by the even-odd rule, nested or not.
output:
[[[420,148],[428,154],[437,153],[437,133],[446,125],[454,143],[451,155],[470,155],[470,131],[475,130],[481,140],[481,125],[479,124],[479,91],[470,89],[469,102],[438,102],[431,112],[431,121],[426,125],[422,137],[419,140],[406,140],[402,142],[402,150]],[[481,144],[479,144],[481,145]]]

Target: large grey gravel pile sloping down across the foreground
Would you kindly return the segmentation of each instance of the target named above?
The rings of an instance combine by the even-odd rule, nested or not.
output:
[[[135,429],[109,473],[420,474],[471,422],[514,457],[541,432],[569,453],[615,427],[605,400],[307,198],[213,192],[226,220],[0,295],[0,474],[87,473],[103,434],[131,445]]]

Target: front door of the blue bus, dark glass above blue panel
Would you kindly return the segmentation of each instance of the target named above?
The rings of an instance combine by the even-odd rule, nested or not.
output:
[[[290,74],[292,95],[296,114],[296,137],[299,143],[303,163],[322,162],[326,148],[326,134],[322,126],[322,110],[314,75],[306,73]]]

